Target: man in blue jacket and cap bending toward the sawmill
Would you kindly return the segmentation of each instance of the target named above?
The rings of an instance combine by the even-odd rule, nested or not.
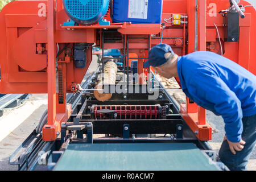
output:
[[[256,144],[256,77],[213,52],[177,56],[167,44],[149,53],[144,67],[159,75],[179,77],[183,92],[197,105],[222,115],[226,135],[219,156],[230,170],[246,170]]]

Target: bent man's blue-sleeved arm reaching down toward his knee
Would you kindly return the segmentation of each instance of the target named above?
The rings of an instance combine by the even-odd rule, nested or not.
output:
[[[236,94],[220,77],[206,68],[197,69],[197,73],[190,79],[189,84],[195,88],[196,93],[193,93],[193,96],[197,100],[213,104],[217,113],[222,115],[228,140],[240,142],[243,130],[242,108]]]

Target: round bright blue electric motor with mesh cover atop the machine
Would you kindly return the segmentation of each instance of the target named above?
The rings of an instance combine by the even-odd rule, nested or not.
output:
[[[102,20],[109,9],[109,0],[63,0],[63,5],[71,21],[88,25]]]

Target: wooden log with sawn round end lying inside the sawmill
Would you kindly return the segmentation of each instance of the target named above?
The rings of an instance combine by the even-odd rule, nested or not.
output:
[[[104,85],[114,85],[115,80],[117,78],[117,64],[115,64],[113,61],[108,61],[104,65],[104,74],[103,74],[103,81],[102,81],[102,75],[98,79],[100,80],[98,84],[96,85],[96,89],[102,89],[103,84]],[[94,97],[98,101],[108,101],[112,97],[112,93],[103,93],[102,90],[94,90]]]

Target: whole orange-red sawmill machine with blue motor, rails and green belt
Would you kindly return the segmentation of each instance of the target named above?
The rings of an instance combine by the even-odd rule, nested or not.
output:
[[[179,56],[218,53],[255,75],[255,20],[254,7],[235,0],[7,4],[0,12],[0,92],[48,94],[48,110],[9,163],[20,170],[225,169],[207,143],[205,109],[189,98],[177,104],[143,63],[151,47],[166,43]],[[100,64],[85,78],[93,48],[102,50]],[[106,49],[122,56],[106,57]],[[119,77],[108,84],[104,67],[113,59],[121,63]],[[98,100],[95,91],[110,99]]]

